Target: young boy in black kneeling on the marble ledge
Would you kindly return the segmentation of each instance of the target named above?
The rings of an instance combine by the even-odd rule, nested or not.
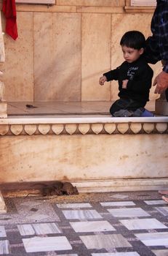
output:
[[[127,31],[120,41],[125,61],[121,66],[103,74],[99,84],[119,81],[119,98],[110,108],[112,116],[153,116],[145,110],[149,100],[153,70],[143,58],[145,37],[140,31]]]

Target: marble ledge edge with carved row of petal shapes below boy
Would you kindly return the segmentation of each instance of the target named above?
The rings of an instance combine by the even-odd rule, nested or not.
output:
[[[168,117],[50,116],[0,118],[5,135],[168,134]]]

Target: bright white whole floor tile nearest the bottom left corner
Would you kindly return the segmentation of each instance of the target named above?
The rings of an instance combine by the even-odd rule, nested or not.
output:
[[[65,236],[23,238],[26,252],[63,251],[72,249]]]

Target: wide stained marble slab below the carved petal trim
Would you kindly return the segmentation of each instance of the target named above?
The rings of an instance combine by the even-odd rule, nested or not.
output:
[[[0,162],[1,183],[164,178],[167,135],[6,136]]]

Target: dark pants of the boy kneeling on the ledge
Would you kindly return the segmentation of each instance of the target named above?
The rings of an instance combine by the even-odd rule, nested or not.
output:
[[[137,108],[143,108],[144,106],[145,104],[142,104],[142,102],[137,102],[133,99],[117,99],[116,102],[111,105],[110,113],[113,116],[113,113],[119,110],[135,111]]]

